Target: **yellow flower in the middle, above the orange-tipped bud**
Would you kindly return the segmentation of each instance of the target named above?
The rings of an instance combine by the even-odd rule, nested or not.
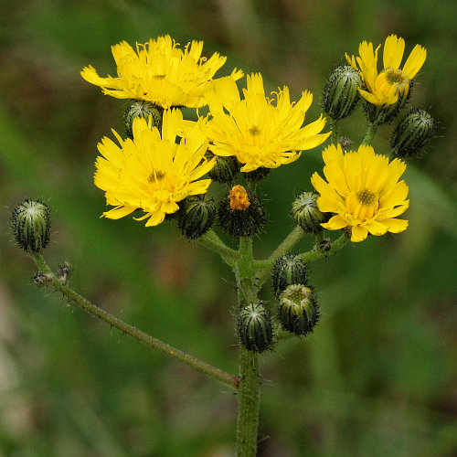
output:
[[[205,92],[211,117],[205,128],[212,142],[210,150],[216,155],[235,155],[244,164],[244,173],[290,164],[300,157],[297,151],[313,149],[330,135],[318,134],[325,125],[322,115],[302,127],[313,94],[303,91],[302,98],[291,103],[286,86],[271,93],[275,104],[265,97],[260,73],[247,77],[243,100],[229,78],[215,80]]]

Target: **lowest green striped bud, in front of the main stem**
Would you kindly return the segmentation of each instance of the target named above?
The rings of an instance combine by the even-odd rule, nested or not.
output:
[[[241,343],[252,352],[271,349],[271,314],[261,303],[251,303],[239,312],[238,333]]]

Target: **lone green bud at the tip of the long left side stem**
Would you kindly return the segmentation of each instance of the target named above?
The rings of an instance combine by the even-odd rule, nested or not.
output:
[[[40,252],[49,242],[49,208],[44,203],[24,200],[12,215],[12,228],[19,248]]]

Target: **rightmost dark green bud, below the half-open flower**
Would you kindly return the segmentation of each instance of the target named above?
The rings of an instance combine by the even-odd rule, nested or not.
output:
[[[392,154],[396,157],[418,156],[423,146],[434,135],[435,129],[435,120],[429,112],[412,109],[399,122],[392,134]]]

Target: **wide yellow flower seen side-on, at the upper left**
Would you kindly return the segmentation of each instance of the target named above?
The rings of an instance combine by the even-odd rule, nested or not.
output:
[[[202,58],[202,49],[203,41],[192,41],[180,49],[169,35],[137,43],[136,52],[122,41],[112,47],[117,78],[101,78],[91,65],[82,69],[81,76],[118,99],[149,101],[164,109],[199,108],[206,105],[203,92],[207,82],[227,59],[218,53]],[[231,74],[235,80],[242,76],[236,69]]]

